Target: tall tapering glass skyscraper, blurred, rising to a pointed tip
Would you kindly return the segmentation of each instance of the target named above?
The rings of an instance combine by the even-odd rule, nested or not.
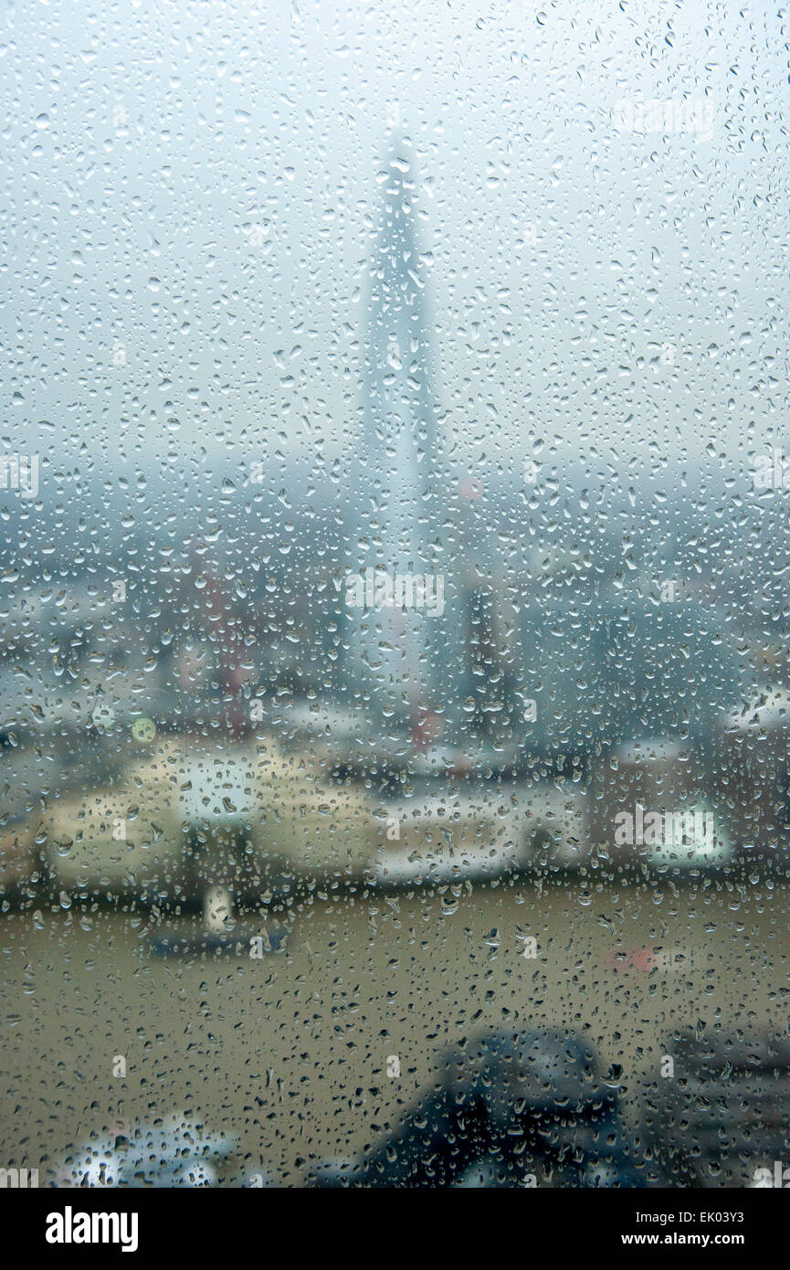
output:
[[[415,234],[414,160],[386,168],[371,262],[363,357],[363,438],[356,540],[349,544],[349,679],[372,718],[427,743],[441,710],[445,578],[431,337]],[[353,561],[353,563],[352,563]],[[356,579],[356,582],[354,582]]]

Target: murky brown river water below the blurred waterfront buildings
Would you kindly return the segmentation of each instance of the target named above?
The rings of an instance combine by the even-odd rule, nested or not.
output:
[[[638,1123],[674,1029],[786,1029],[789,916],[787,883],[757,874],[316,894],[253,959],[151,954],[196,917],[9,912],[0,1156],[43,1184],[91,1134],[178,1111],[239,1137],[241,1179],[300,1185],[394,1125],[447,1045],[503,1026],[583,1033]]]

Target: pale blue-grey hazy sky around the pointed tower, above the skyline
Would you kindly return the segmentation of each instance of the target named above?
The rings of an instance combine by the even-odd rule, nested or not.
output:
[[[460,466],[746,471],[784,439],[776,10],[24,0],[0,25],[6,446],[349,452],[398,128]],[[652,99],[686,99],[681,131],[619,127]]]

